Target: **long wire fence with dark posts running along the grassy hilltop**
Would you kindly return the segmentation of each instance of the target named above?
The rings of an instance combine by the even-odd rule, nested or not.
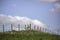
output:
[[[52,30],[49,30],[47,28],[42,28],[42,27],[38,27],[36,25],[20,25],[20,24],[0,24],[0,32],[6,32],[6,31],[21,31],[21,30],[37,30],[37,31],[44,31],[44,32],[48,32],[48,33],[54,33]]]

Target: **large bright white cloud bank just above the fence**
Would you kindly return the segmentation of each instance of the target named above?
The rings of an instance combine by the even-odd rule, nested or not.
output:
[[[14,25],[32,24],[39,27],[46,27],[45,24],[43,24],[38,20],[30,19],[28,17],[10,16],[10,15],[3,15],[3,14],[0,14],[0,24],[14,24]]]

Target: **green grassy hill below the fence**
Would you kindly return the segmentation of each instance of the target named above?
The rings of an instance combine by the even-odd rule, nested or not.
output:
[[[12,31],[0,32],[0,40],[60,40],[60,35],[48,34],[40,31]]]

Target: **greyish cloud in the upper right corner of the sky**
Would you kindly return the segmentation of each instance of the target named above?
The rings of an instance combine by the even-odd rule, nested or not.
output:
[[[50,12],[57,12],[57,13],[60,13],[60,0],[36,0],[36,1],[39,1],[39,2],[47,2],[47,3],[55,3],[54,4],[54,8],[52,9],[49,9]]]

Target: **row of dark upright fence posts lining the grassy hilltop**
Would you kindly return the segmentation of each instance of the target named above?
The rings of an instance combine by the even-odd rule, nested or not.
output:
[[[20,31],[20,24],[18,24],[18,31]],[[39,30],[39,31],[42,31],[42,29],[46,32],[46,31],[49,31],[49,30],[47,30],[47,29],[45,29],[45,28],[41,28],[41,27],[37,27],[36,28],[36,26],[34,26],[34,28],[33,29],[31,29],[31,24],[29,24],[29,25],[25,25],[25,30]],[[13,30],[13,24],[11,24],[11,31]],[[3,32],[5,32],[5,25],[3,24]],[[51,32],[51,30],[50,30],[50,32]]]

